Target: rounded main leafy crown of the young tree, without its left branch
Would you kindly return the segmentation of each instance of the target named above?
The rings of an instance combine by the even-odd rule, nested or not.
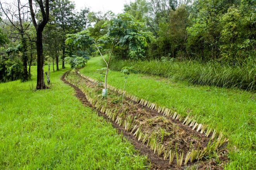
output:
[[[145,24],[135,20],[130,14],[114,15],[112,19],[104,24],[107,27],[107,34],[99,38],[102,45],[114,45],[117,49],[115,55],[119,56],[126,51],[129,58],[144,59],[145,49],[149,42],[154,40],[151,32],[143,31]]]

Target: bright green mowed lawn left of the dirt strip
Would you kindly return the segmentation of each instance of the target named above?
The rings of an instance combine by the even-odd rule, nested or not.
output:
[[[147,168],[147,158],[60,80],[69,69],[51,72],[51,88],[38,91],[32,69],[29,82],[0,83],[0,170]]]

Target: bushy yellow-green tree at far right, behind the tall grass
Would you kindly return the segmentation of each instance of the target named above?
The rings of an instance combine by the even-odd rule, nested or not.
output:
[[[229,8],[221,20],[221,57],[230,63],[242,63],[244,59],[255,56],[256,41],[249,39],[250,31],[247,17],[243,16],[237,8]],[[248,39],[245,39],[247,35]]]

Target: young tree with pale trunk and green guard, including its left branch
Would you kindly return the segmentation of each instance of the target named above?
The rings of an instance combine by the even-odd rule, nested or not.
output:
[[[114,15],[109,12],[111,19],[106,21],[103,27],[106,27],[107,34],[101,36],[97,41],[90,37],[88,31],[81,31],[76,34],[67,34],[66,44],[72,44],[74,46],[90,46],[93,45],[102,56],[102,59],[106,63],[106,74],[104,78],[104,89],[102,89],[102,97],[107,96],[107,75],[109,72],[109,64],[112,58],[112,54],[115,48],[127,47],[129,49],[129,55],[143,56],[143,48],[148,46],[148,42],[154,39],[151,32],[145,32],[145,24],[138,22],[130,14],[118,14]],[[102,50],[109,50],[109,55],[104,57]]]

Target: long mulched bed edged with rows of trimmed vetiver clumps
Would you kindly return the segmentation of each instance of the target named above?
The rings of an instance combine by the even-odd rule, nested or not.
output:
[[[77,76],[77,79],[72,79],[72,76]],[[82,81],[80,76],[82,76],[84,78],[83,80],[86,81]],[[218,148],[227,142],[227,139],[223,137],[222,133],[220,133],[217,137],[215,130],[208,128],[208,126],[205,124],[197,123],[192,117],[187,116],[184,119],[180,114],[171,109],[160,107],[149,101],[139,99],[138,97],[127,92],[125,92],[126,100],[124,103],[121,105],[116,103],[114,105],[110,105],[108,100],[101,99],[100,95],[97,95],[97,90],[99,89],[97,89],[96,80],[81,74],[80,76],[73,74],[68,76],[66,80],[80,88],[80,90],[85,93],[86,99],[93,107],[106,114],[110,119],[112,119],[112,121],[116,121],[119,126],[123,126],[126,131],[133,133],[133,135],[139,141],[142,141],[142,143],[147,143],[147,146],[149,146],[154,153],[157,153],[158,156],[163,156],[165,160],[169,159],[170,163],[173,163],[175,155],[177,166],[182,166],[182,163],[183,165],[187,165],[189,160],[191,163],[193,163],[195,160],[201,160],[204,156],[209,155],[209,153],[218,150]],[[116,89],[110,85],[108,85],[108,88],[113,92],[111,93],[112,95],[123,94],[123,90]],[[111,97],[109,97],[109,99],[111,100]],[[129,107],[128,115],[124,114],[125,107]],[[140,113],[131,111],[132,109],[138,109],[140,107],[147,107],[147,109],[140,109]],[[157,111],[159,115],[148,114],[148,112],[153,112],[152,110],[155,110],[155,112]],[[157,125],[154,127],[149,126],[149,120],[158,121],[154,123],[156,123],[158,126],[160,126],[162,123],[164,126],[160,126],[160,128],[157,128]],[[196,133],[194,133],[194,136],[193,133],[186,133],[181,126],[177,126],[175,121],[179,121],[180,124],[183,124],[183,126],[187,126],[190,131],[195,131]],[[167,139],[163,139],[162,135],[162,139],[159,139],[161,138],[161,135],[157,136],[157,134],[161,134],[160,130],[162,128],[165,132],[165,126],[168,126],[168,131],[170,131],[171,128],[175,135],[172,134],[174,136],[173,137],[172,135],[168,134]],[[178,136],[187,140],[188,143],[191,143],[189,148],[183,147],[184,149],[182,148],[182,150],[179,148],[180,143],[178,143],[178,141],[175,141],[175,143],[172,142],[172,140]],[[197,137],[199,140],[196,140]],[[204,140],[203,143],[200,141],[202,139],[208,140]],[[176,142],[178,143],[177,145]],[[194,143],[194,145],[192,143]],[[172,145],[171,147],[170,144]],[[174,145],[175,147],[173,147]],[[187,144],[183,143],[183,145]],[[187,153],[184,159],[183,155],[185,152]]]

